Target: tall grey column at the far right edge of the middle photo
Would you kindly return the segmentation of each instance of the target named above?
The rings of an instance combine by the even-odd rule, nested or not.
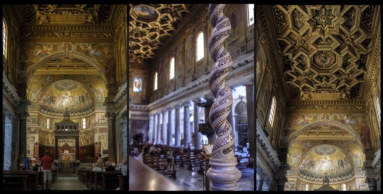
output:
[[[247,131],[249,137],[250,159],[254,162],[254,83],[245,84],[246,86],[246,104],[247,104]]]

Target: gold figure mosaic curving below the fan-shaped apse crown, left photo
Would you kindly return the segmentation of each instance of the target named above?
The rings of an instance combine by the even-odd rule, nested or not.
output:
[[[83,109],[93,103],[91,94],[82,86],[70,91],[59,91],[51,86],[41,97],[40,104],[52,110],[68,111]]]

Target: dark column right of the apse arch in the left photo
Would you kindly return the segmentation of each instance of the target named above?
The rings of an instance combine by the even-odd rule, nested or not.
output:
[[[110,163],[117,163],[116,153],[116,113],[107,112],[108,118],[108,160]]]

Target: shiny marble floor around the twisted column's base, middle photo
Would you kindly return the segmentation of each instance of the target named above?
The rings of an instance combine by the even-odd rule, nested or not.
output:
[[[246,156],[246,152],[236,152],[237,155]],[[246,166],[237,167],[242,173],[242,177],[238,180],[239,191],[254,191],[254,169],[247,168]],[[177,185],[183,187],[185,190],[203,191],[203,177],[197,172],[198,168],[191,171],[187,169],[187,165],[183,168],[176,165],[177,179],[170,178]],[[167,176],[169,177],[169,176]]]

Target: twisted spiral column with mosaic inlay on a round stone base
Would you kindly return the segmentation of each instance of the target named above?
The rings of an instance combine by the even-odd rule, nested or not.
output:
[[[210,35],[208,49],[210,56],[216,62],[209,75],[210,90],[216,97],[209,112],[209,121],[217,140],[214,142],[211,168],[206,172],[210,178],[211,190],[238,190],[237,181],[241,172],[236,168],[237,159],[234,155],[234,132],[226,117],[233,105],[233,95],[225,83],[225,77],[232,67],[230,53],[223,47],[224,40],[231,29],[229,19],[223,15],[225,4],[209,4],[209,19],[214,26]]]

